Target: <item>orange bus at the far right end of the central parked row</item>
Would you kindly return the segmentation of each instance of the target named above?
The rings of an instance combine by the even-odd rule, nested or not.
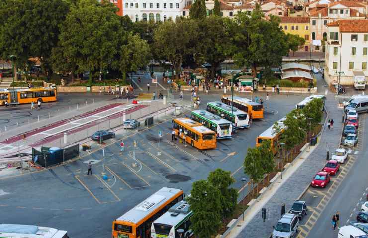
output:
[[[231,105],[231,95],[223,95],[221,101],[227,105]],[[232,101],[234,107],[248,113],[252,119],[263,118],[262,104],[238,96],[233,96]]]

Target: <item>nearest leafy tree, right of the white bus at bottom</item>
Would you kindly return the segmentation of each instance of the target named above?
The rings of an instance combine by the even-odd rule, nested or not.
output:
[[[193,183],[188,202],[193,211],[191,228],[199,238],[209,238],[221,225],[221,193],[206,180]]]

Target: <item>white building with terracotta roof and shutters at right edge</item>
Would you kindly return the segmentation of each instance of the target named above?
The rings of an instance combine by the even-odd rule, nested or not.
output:
[[[362,73],[367,80],[367,48],[368,19],[342,19],[327,24],[326,82],[353,85],[354,75]]]

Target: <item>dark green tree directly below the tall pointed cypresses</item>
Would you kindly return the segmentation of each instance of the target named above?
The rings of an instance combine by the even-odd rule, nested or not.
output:
[[[214,78],[220,63],[226,60],[231,53],[231,41],[226,20],[220,16],[210,16],[199,21],[199,41],[195,58],[203,59],[211,64],[211,78]]]

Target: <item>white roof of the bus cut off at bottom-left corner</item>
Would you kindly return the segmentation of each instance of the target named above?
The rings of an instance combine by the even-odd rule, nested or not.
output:
[[[55,234],[66,231],[58,231],[55,228],[39,227],[33,225],[19,225],[19,224],[0,224],[1,237],[9,235],[15,237],[14,234],[27,234],[29,238],[53,238]],[[8,234],[6,234],[8,233]],[[30,236],[34,235],[34,236]]]

